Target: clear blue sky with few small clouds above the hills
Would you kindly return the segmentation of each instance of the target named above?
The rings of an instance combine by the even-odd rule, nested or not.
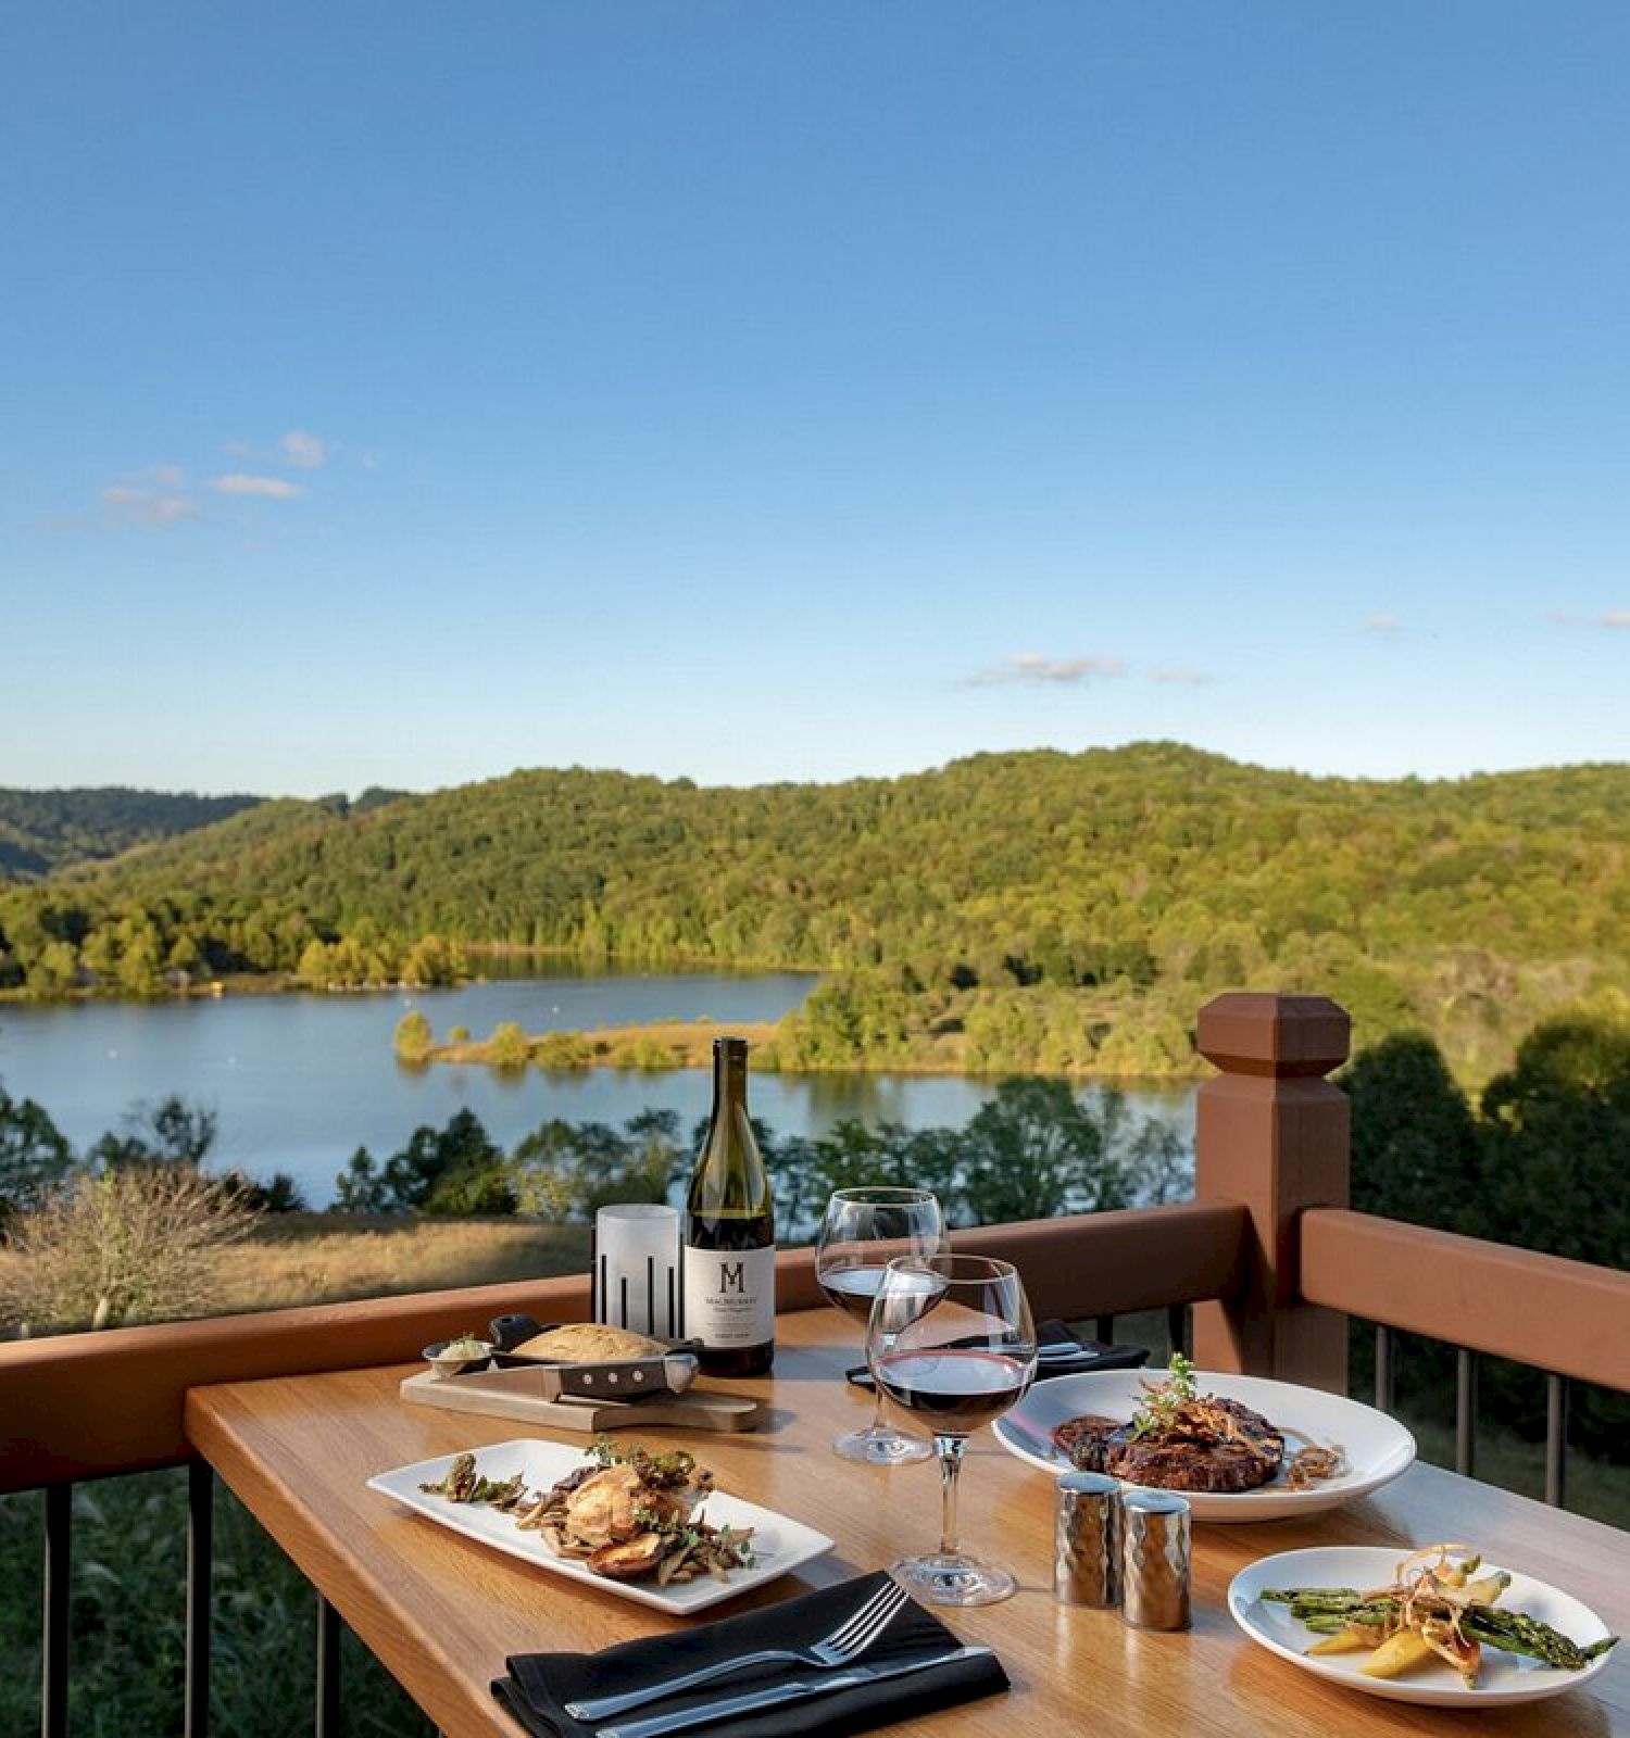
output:
[[[1630,12],[0,9],[0,784],[1630,754]]]

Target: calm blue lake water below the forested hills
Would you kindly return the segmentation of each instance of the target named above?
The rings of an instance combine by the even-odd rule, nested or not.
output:
[[[410,1008],[438,1038],[466,1025],[485,1038],[499,1020],[528,1032],[643,1020],[777,1020],[812,977],[608,975],[469,984],[367,996],[238,996],[221,1001],[0,1006],[0,1081],[36,1098],[63,1133],[89,1145],[132,1105],[169,1093],[219,1118],[215,1163],[254,1175],[288,1171],[313,1206],[334,1192],[353,1149],[388,1158],[421,1123],[469,1107],[509,1147],[547,1118],[622,1123],[636,1111],[678,1111],[688,1130],[707,1114],[702,1072],[542,1074],[513,1078],[480,1065],[396,1062],[391,1036]],[[914,1128],[964,1123],[991,1088],[912,1074],[756,1074],[752,1109],[772,1128],[818,1135],[846,1116]],[[1190,1090],[1133,1095],[1140,1109],[1190,1118]]]

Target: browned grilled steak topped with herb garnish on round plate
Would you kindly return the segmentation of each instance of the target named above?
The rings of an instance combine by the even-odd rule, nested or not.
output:
[[[1083,1470],[1168,1491],[1251,1491],[1284,1460],[1284,1437],[1262,1413],[1215,1396],[1175,1429],[1135,1437],[1130,1423],[1086,1416],[1058,1425],[1053,1441]]]

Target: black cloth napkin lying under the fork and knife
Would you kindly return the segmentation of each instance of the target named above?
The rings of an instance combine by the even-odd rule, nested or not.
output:
[[[667,1677],[679,1677],[714,1660],[728,1660],[761,1648],[806,1648],[829,1635],[845,1618],[865,1604],[888,1575],[862,1575],[853,1582],[822,1587],[798,1599],[742,1611],[716,1623],[700,1623],[669,1635],[626,1641],[601,1653],[523,1653],[506,1660],[507,1677],[497,1679],[492,1693],[537,1738],[589,1738],[596,1729],[572,1719],[565,1703],[589,1696],[610,1696],[624,1689],[641,1689]],[[888,1629],[867,1648],[857,1663],[881,1665],[947,1653],[961,1646],[957,1637],[919,1604],[907,1599]],[[624,1721],[678,1712],[700,1702],[745,1695],[810,1672],[805,1665],[763,1665],[751,1672],[719,1677],[686,1696],[652,1702]],[[909,1677],[858,1684],[829,1696],[813,1696],[759,1714],[739,1715],[718,1726],[700,1728],[702,1738],[796,1738],[799,1733],[860,1733],[872,1726],[912,1719],[971,1702],[1008,1688],[1008,1674],[996,1655],[956,1660],[944,1667],[926,1667]],[[613,1719],[601,1726],[619,1724]]]

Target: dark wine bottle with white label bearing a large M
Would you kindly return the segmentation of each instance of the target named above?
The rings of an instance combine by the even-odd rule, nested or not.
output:
[[[712,1119],[690,1178],[685,1335],[711,1376],[758,1376],[775,1357],[775,1211],[747,1118],[747,1039],[712,1041]]]

